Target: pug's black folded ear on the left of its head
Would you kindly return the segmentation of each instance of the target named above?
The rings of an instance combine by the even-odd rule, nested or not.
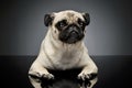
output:
[[[54,20],[53,14],[45,14],[44,15],[44,24],[45,24],[45,26],[52,25],[53,20]]]

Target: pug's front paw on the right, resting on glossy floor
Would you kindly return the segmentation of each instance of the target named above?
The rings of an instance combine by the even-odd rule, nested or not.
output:
[[[92,73],[92,74],[87,74],[87,73],[80,73],[79,75],[78,75],[78,79],[82,79],[82,80],[91,80],[91,79],[94,79],[94,78],[96,78],[97,77],[97,74],[96,73]]]

